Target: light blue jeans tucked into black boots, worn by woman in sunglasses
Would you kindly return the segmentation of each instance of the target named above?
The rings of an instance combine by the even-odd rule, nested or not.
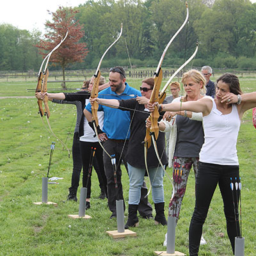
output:
[[[128,163],[129,172],[129,204],[139,204],[141,196],[141,186],[144,181],[145,168],[136,168]],[[163,177],[164,170],[158,168],[148,168],[150,182],[152,184],[152,198],[155,204],[164,202]]]

